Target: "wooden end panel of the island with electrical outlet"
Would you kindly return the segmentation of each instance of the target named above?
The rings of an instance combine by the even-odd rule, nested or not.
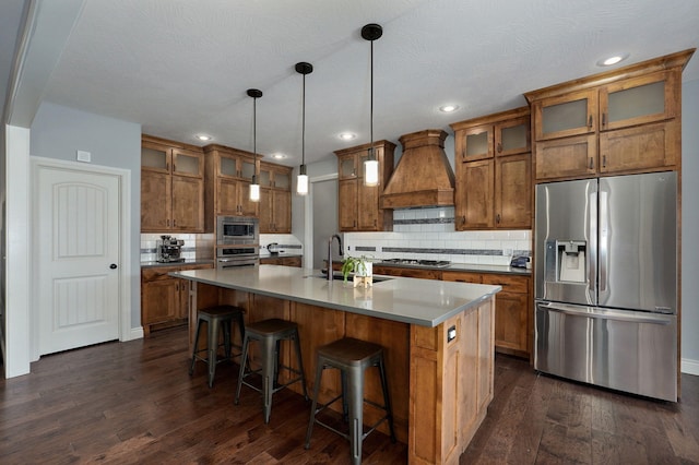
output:
[[[412,326],[410,463],[458,464],[483,422],[493,398],[494,309],[490,298],[437,327]]]

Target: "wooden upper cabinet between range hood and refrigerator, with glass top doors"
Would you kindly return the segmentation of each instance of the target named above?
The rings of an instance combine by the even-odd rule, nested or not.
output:
[[[529,108],[451,124],[457,187],[454,227],[531,227],[531,138]]]

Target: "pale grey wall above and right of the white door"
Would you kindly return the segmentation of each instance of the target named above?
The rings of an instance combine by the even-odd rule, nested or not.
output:
[[[32,123],[33,156],[75,160],[92,154],[92,165],[131,171],[131,327],[141,326],[141,124],[44,102]]]

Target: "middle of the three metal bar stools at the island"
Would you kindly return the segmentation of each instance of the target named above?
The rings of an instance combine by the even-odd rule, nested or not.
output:
[[[251,370],[248,362],[248,349],[250,342],[259,341],[261,343],[260,358],[262,367],[258,370]],[[280,343],[282,341],[293,341],[296,350],[296,359],[298,369],[287,367],[280,362]],[[247,370],[246,370],[247,367]],[[279,370],[283,368],[298,377],[279,384]],[[260,373],[262,375],[262,388],[258,388],[246,381],[246,378]],[[238,388],[236,389],[235,404],[240,401],[240,388],[242,384],[262,393],[262,413],[264,414],[264,422],[270,422],[270,414],[272,413],[272,395],[283,388],[295,382],[301,382],[304,389],[304,397],[308,400],[306,392],[306,377],[304,375],[304,362],[301,360],[301,347],[298,341],[298,325],[294,322],[270,319],[250,323],[246,326],[245,338],[242,339],[242,357],[240,359],[240,375],[238,377]]]

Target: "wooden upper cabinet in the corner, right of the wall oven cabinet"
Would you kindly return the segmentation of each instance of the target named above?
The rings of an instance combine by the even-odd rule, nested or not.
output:
[[[260,164],[260,233],[292,234],[292,168]]]

